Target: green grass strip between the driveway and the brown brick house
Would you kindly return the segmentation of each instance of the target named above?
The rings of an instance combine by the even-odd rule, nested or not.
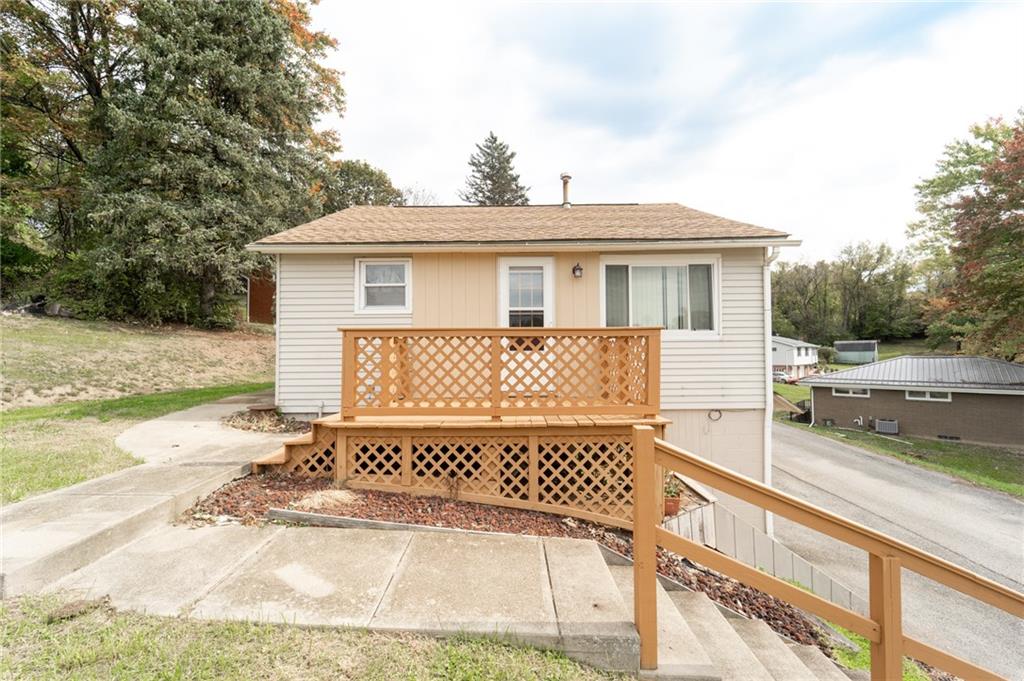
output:
[[[814,426],[812,432],[1024,498],[1024,455],[1010,450],[908,435],[893,439],[866,431],[824,426]]]

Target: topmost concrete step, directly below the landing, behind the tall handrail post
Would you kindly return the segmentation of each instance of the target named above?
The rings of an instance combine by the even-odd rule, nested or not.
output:
[[[618,587],[623,602],[632,609],[633,567],[609,565],[608,570]],[[663,681],[720,681],[722,678],[660,584],[657,585],[657,662],[656,672],[644,672],[642,678]]]

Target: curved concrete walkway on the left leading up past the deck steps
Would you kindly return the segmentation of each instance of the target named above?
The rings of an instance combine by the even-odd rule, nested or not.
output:
[[[237,395],[137,424],[116,443],[146,463],[3,507],[0,596],[39,590],[245,475],[252,459],[289,436],[233,430],[220,419],[265,399]]]

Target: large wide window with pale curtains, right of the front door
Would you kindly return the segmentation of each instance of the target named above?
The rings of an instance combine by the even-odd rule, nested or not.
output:
[[[660,327],[716,332],[713,263],[606,263],[604,323],[608,327]]]

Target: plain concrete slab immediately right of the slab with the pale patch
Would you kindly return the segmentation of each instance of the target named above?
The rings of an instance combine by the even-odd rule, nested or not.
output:
[[[536,537],[416,534],[370,626],[555,645],[544,546]]]

